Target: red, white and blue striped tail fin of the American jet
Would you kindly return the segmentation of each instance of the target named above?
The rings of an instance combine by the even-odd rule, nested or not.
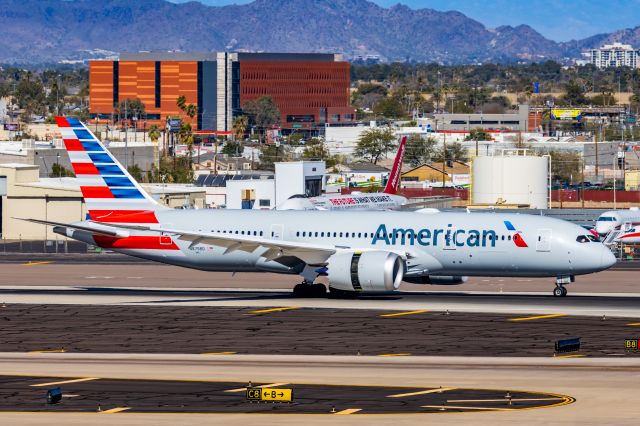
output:
[[[166,207],[147,194],[95,135],[79,120],[55,117],[89,219],[104,223],[158,223]]]

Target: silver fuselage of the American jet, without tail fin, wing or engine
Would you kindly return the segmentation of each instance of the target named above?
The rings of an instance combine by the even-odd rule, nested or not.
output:
[[[436,275],[549,277],[610,267],[599,242],[578,242],[584,228],[558,219],[501,213],[159,210],[159,226],[223,236],[313,243],[337,251],[386,251],[405,259],[405,277]],[[72,238],[158,262],[208,271],[300,273],[295,258],[269,260],[266,248],[226,250],[177,235],[131,231],[128,238],[73,231]],[[329,266],[330,267],[330,266]]]

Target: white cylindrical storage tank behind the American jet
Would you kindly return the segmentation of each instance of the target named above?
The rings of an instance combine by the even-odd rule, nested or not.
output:
[[[549,207],[549,158],[525,150],[473,160],[473,204],[527,204]],[[521,154],[521,155],[518,155]]]

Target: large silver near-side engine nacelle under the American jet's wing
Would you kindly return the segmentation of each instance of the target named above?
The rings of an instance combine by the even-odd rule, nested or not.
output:
[[[388,251],[344,251],[327,264],[329,285],[345,291],[397,290],[404,276],[404,260]]]

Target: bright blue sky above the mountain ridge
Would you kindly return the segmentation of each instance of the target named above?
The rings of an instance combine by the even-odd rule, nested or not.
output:
[[[176,3],[186,0],[171,0]],[[200,0],[214,6],[250,0]],[[458,10],[487,27],[528,24],[556,41],[581,39],[640,25],[640,0],[372,0],[417,9]]]

